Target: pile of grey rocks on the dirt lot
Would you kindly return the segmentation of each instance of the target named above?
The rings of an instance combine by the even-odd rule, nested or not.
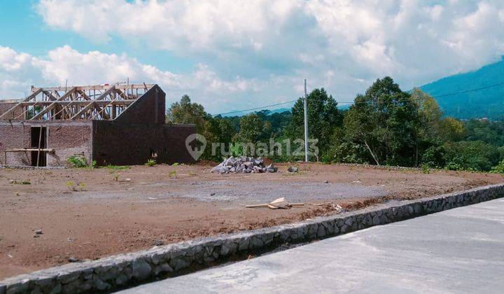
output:
[[[265,166],[262,158],[249,158],[247,156],[233,157],[225,159],[216,167],[212,168],[210,172],[216,174],[228,173],[262,173],[262,172],[276,172],[277,168],[271,165]]]

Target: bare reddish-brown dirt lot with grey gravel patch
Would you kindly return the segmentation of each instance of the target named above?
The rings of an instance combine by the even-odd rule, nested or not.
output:
[[[210,166],[202,165],[0,169],[0,278],[69,258],[96,259],[334,214],[332,204],[358,209],[503,182],[498,174],[319,164],[301,164],[300,172],[291,174],[287,167],[279,165],[275,174],[223,175],[210,174]],[[278,197],[330,204],[244,207]]]

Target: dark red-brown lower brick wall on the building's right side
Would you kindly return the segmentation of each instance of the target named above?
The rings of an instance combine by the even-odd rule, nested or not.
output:
[[[186,137],[195,132],[194,125],[94,121],[93,159],[98,165],[144,165],[155,149],[158,163],[193,162],[186,149]]]

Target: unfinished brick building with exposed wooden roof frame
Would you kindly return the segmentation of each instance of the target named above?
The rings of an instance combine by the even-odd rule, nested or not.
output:
[[[72,155],[87,164],[191,162],[194,125],[165,123],[158,85],[32,87],[20,101],[0,101],[0,164],[58,167]]]

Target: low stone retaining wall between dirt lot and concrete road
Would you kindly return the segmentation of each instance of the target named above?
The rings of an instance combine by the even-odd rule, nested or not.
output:
[[[209,267],[230,258],[240,259],[248,253],[265,252],[286,243],[332,237],[503,196],[504,184],[484,186],[421,200],[381,204],[312,221],[156,246],[15,276],[0,281],[0,294],[106,292]]]

